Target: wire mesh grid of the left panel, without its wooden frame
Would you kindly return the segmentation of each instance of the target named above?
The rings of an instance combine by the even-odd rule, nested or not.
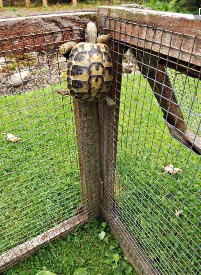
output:
[[[40,36],[40,45],[27,46],[26,39],[24,47],[17,50],[9,38],[13,50],[0,53],[6,61],[0,73],[0,254],[55,228],[78,209],[82,212],[80,207],[84,203],[88,204],[88,212],[84,213],[88,217],[86,220],[95,216],[96,203],[84,201],[91,196],[92,187],[84,190],[86,198],[82,197],[78,151],[83,159],[87,156],[87,165],[94,156],[89,155],[85,147],[77,146],[76,130],[79,128],[75,123],[72,98],[62,98],[55,93],[66,88],[66,69],[60,69],[63,60],[60,61],[55,51],[58,47],[56,37],[65,37],[65,31],[33,34],[31,41],[36,42],[36,37]],[[77,34],[74,32],[69,39],[78,42],[83,41],[83,37],[84,30],[78,28]],[[62,42],[65,39],[60,40],[60,44]],[[4,39],[0,43],[2,49],[8,44]],[[34,56],[30,53],[32,50]],[[7,63],[11,54],[15,60]],[[9,79],[12,73],[25,70],[24,65],[28,67],[30,78],[15,88]],[[56,67],[53,70],[52,65]],[[91,123],[88,121],[89,131]],[[16,135],[20,141],[8,142],[8,133]],[[90,166],[85,168],[87,180],[91,177],[90,169]],[[70,227],[73,226],[71,222]],[[31,245],[26,248],[27,252],[32,249]]]

